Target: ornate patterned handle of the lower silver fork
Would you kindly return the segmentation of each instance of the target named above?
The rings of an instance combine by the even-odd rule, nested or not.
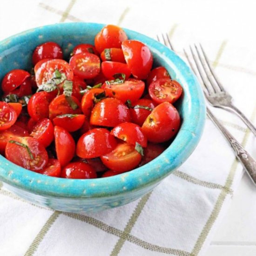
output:
[[[216,119],[207,108],[207,115],[213,121],[213,123],[222,131],[222,134],[229,141],[230,146],[234,149],[237,159],[242,163],[243,168],[247,171],[250,178],[256,185],[256,161],[249,155],[249,153],[243,148],[243,146],[236,141],[236,139],[229,133],[229,131],[222,126],[222,124]]]

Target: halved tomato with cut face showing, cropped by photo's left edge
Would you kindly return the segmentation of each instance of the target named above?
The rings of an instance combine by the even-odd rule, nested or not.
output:
[[[17,120],[17,113],[6,102],[0,101],[0,131],[7,130]]]

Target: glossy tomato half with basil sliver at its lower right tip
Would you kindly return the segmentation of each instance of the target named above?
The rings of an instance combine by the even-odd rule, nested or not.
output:
[[[142,133],[141,128],[134,123],[121,123],[111,131],[111,134],[129,144],[136,145],[137,142],[141,147],[147,147],[146,136]]]

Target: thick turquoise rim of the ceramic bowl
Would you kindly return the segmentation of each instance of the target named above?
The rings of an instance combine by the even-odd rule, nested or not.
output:
[[[2,48],[7,49],[12,44],[16,45],[17,41],[25,40],[29,34],[40,34],[45,33],[47,30],[64,28],[65,30],[72,30],[81,27],[94,29],[98,32],[103,26],[105,24],[74,22],[32,28],[0,41],[0,52]],[[123,29],[132,35],[130,36],[131,39],[141,40],[158,53],[161,52],[162,58],[168,60],[172,69],[187,82],[189,94],[193,95],[193,98],[197,100],[195,102],[191,98],[186,103],[188,104],[190,118],[183,121],[181,129],[171,145],[160,156],[144,166],[127,173],[88,180],[63,179],[41,175],[17,166],[0,155],[0,180],[16,188],[38,195],[47,195],[48,197],[96,198],[115,196],[141,190],[143,187],[150,186],[150,184],[160,182],[160,180],[178,168],[191,155],[201,138],[206,118],[205,101],[199,82],[187,64],[168,47],[146,35],[126,28]],[[184,150],[184,147],[186,150]]]

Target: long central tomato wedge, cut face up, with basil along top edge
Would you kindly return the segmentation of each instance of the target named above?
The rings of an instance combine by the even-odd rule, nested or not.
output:
[[[131,78],[121,84],[105,83],[103,88],[106,91],[106,95],[109,97],[114,97],[123,103],[128,100],[134,103],[138,101],[143,94],[145,83],[141,80]]]

